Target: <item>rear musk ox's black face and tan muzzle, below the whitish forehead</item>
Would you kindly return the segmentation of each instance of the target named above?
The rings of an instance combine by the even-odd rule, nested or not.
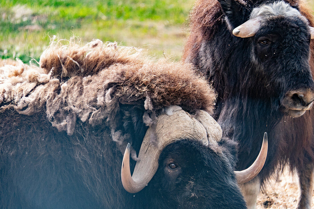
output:
[[[282,108],[293,117],[303,115],[314,100],[310,40],[308,25],[299,17],[268,19],[252,40],[257,69],[282,92]]]

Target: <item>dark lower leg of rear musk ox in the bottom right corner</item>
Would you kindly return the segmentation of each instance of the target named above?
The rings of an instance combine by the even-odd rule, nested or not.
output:
[[[314,164],[298,169],[300,196],[296,209],[311,209],[314,181]]]

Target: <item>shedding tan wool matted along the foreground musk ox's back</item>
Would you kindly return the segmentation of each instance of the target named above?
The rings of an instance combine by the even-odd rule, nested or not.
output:
[[[52,126],[73,134],[77,118],[89,124],[109,122],[119,104],[144,104],[148,112],[169,105],[188,112],[213,113],[216,94],[190,64],[155,61],[133,47],[93,40],[85,46],[53,39],[42,53],[40,67],[21,61],[0,67],[0,113],[46,111]],[[144,102],[143,102],[144,101]]]

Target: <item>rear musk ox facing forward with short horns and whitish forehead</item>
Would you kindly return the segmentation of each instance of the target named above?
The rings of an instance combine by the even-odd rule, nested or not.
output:
[[[289,165],[300,182],[297,208],[311,207],[314,170],[313,17],[298,0],[198,0],[183,58],[218,92],[214,118],[240,143],[237,169],[271,138],[265,166],[242,190],[256,207],[260,185]],[[279,169],[280,170],[280,169]]]

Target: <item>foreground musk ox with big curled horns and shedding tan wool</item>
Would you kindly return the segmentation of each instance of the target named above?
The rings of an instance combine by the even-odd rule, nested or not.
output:
[[[40,67],[0,68],[1,208],[246,208],[237,181],[262,169],[267,137],[235,172],[236,143],[192,65],[60,42]]]

